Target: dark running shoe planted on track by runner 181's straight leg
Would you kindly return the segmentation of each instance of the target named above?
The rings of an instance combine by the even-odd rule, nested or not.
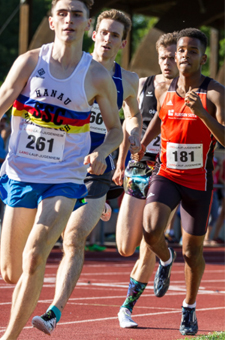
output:
[[[180,333],[182,335],[195,335],[198,331],[198,321],[195,308],[182,307]]]

